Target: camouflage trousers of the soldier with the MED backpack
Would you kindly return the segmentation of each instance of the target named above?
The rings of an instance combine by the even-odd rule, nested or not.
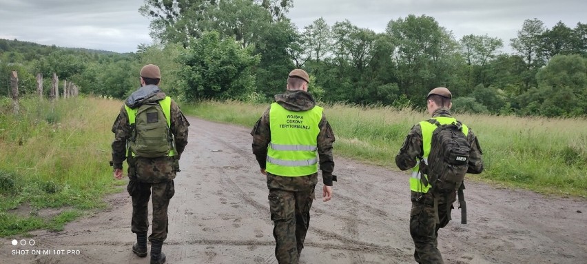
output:
[[[410,234],[414,241],[414,259],[421,264],[442,264],[438,250],[438,230],[451,221],[455,194],[437,197],[438,221],[435,216],[434,196],[431,193],[411,192]]]

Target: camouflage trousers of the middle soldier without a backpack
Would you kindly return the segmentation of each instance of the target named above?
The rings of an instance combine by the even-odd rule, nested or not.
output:
[[[275,256],[280,264],[298,263],[308,232],[317,181],[317,174],[282,177],[267,173]]]

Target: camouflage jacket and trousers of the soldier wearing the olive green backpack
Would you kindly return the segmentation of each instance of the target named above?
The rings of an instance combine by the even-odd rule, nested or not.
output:
[[[132,102],[133,105],[156,102],[165,99],[165,93],[158,90],[154,85],[147,85],[141,89],[151,88],[155,91],[144,99]],[[140,89],[140,90],[141,90]],[[127,105],[129,100],[126,101]],[[174,135],[177,154],[176,156],[164,156],[161,158],[130,158],[127,160],[128,177],[130,179],[127,191],[132,196],[132,223],[133,233],[147,232],[149,221],[147,219],[147,205],[149,203],[151,190],[153,192],[153,221],[152,234],[149,241],[165,241],[167,238],[167,206],[169,199],[175,193],[174,179],[179,171],[178,160],[187,145],[187,127],[189,123],[181,113],[175,101],[171,102],[171,131]],[[114,125],[114,141],[112,142],[112,165],[114,169],[121,169],[123,161],[127,159],[127,140],[131,136],[131,127],[128,121],[128,114],[124,105]]]

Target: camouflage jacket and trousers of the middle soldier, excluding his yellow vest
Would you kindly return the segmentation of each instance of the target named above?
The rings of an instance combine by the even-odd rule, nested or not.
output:
[[[277,103],[291,111],[311,110],[316,102],[308,92],[286,91],[275,97]],[[253,136],[253,153],[262,169],[265,169],[267,160],[267,145],[271,141],[269,130],[269,110],[267,108],[257,121],[251,135]],[[318,123],[318,156],[322,181],[331,186],[336,181],[332,172],[334,161],[332,157],[332,143],[334,134],[326,116]],[[267,187],[269,188],[269,208],[271,220],[274,221],[274,238],[276,240],[275,255],[279,263],[298,263],[300,252],[304,248],[304,240],[309,227],[310,208],[314,199],[314,187],[318,183],[318,173],[306,176],[287,177],[276,176],[267,172]]]

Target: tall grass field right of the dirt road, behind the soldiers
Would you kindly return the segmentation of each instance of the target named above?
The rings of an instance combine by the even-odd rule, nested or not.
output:
[[[187,114],[252,128],[267,105],[204,101]],[[411,109],[326,105],[337,155],[395,167],[406,134],[429,115]],[[536,192],[587,196],[587,120],[457,114],[483,150],[485,171],[475,179]],[[396,167],[395,167],[396,168]]]

